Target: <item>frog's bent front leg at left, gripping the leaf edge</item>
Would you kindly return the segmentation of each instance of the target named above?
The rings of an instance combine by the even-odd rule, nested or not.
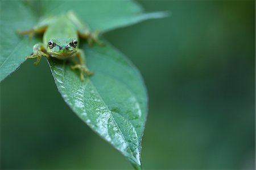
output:
[[[38,58],[34,63],[34,64],[38,64],[42,56],[46,56],[47,58],[49,58],[49,55],[47,54],[46,48],[44,48],[43,43],[38,43],[34,45],[32,55],[27,56],[26,59]]]

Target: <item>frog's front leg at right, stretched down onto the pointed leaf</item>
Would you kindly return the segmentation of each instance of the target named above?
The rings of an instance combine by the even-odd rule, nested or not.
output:
[[[80,79],[84,81],[84,73],[88,76],[92,76],[93,73],[89,71],[85,64],[85,54],[81,49],[77,49],[77,58],[79,59],[79,64],[75,64],[71,66],[71,69],[79,69],[80,70]]]

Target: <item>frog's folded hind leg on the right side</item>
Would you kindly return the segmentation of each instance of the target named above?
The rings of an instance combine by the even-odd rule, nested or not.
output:
[[[79,36],[83,39],[88,40],[88,43],[92,45],[93,43],[97,43],[99,45],[104,45],[104,43],[99,39],[100,31],[96,30],[92,32],[88,25],[82,22],[73,11],[68,11],[68,18],[71,22],[76,26],[76,29],[79,33]]]

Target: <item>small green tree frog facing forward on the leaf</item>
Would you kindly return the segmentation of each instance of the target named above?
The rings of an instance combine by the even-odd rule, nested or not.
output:
[[[87,39],[89,44],[96,42],[102,45],[103,43],[98,39],[99,31],[91,32],[72,11],[45,18],[30,30],[18,30],[18,34],[21,35],[33,36],[42,33],[44,33],[43,43],[35,44],[32,55],[27,56],[26,59],[37,58],[35,64],[38,64],[42,56],[46,56],[47,59],[56,57],[60,60],[78,57],[79,64],[73,65],[71,69],[80,70],[81,81],[85,80],[85,73],[88,76],[93,74],[86,67],[84,52],[79,49],[79,36]]]

